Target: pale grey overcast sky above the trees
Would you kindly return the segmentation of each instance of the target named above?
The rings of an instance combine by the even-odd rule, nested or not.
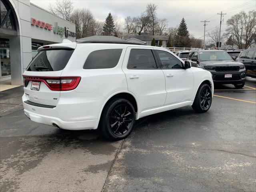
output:
[[[55,0],[30,0],[33,4],[48,10]],[[220,24],[220,13],[224,15],[222,29],[232,15],[256,9],[256,0],[73,0],[75,8],[88,8],[97,20],[105,20],[109,12],[124,21],[126,16],[138,16],[148,3],[157,5],[158,18],[166,18],[168,26],[178,26],[185,18],[190,34],[203,38],[204,26],[200,21],[208,20],[206,31]],[[207,32],[206,32],[207,34]]]

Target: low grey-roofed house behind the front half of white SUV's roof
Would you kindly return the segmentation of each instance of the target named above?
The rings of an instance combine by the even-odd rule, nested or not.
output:
[[[168,35],[124,35],[122,38],[124,40],[129,40],[130,42],[144,42],[146,45],[151,45],[153,38],[155,38],[156,46],[159,45],[160,40],[162,40],[163,47],[166,47],[168,41]]]

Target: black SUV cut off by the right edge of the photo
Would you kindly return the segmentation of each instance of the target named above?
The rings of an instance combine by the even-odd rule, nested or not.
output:
[[[256,50],[247,49],[240,53],[237,62],[244,64],[246,69],[246,76],[256,78]]]

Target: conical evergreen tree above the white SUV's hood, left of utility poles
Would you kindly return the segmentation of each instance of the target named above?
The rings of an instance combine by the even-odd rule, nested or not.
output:
[[[178,46],[179,47],[190,46],[189,32],[188,32],[187,24],[186,24],[184,18],[182,18],[182,20],[180,22],[180,26],[178,28],[177,34],[178,34]]]

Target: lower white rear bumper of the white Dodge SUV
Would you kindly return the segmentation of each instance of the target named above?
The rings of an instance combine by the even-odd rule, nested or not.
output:
[[[42,123],[50,126],[54,126],[55,124],[59,128],[67,129],[67,130],[97,129],[99,124],[99,119],[83,120],[83,121],[62,121],[59,118],[36,114],[27,109],[24,109],[24,113],[28,118],[30,118],[30,120],[34,122]]]

